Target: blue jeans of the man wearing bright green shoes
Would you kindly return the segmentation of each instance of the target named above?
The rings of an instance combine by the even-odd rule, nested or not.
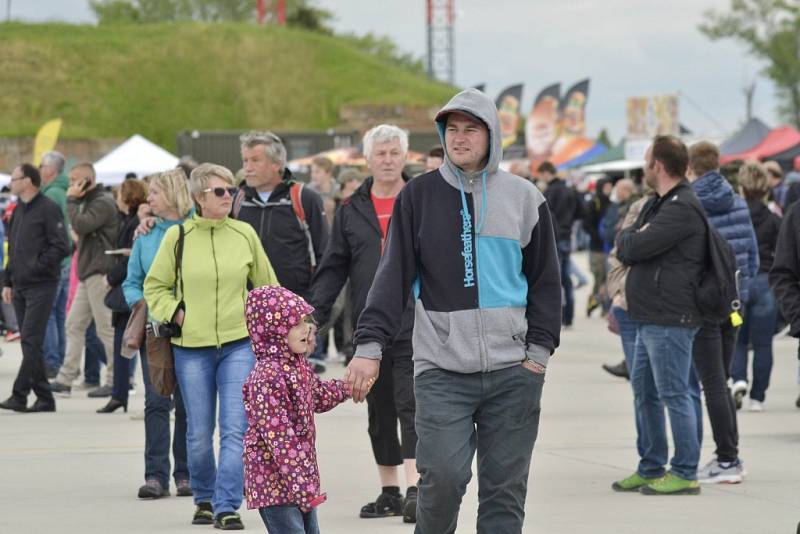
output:
[[[697,479],[700,442],[697,416],[689,393],[696,332],[697,328],[639,325],[631,384],[642,430],[647,435],[637,469],[645,478],[664,475],[669,452],[666,406],[675,441],[675,454],[670,460],[672,472],[687,480]]]

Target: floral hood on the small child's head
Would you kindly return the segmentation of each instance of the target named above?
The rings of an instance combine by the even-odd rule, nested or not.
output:
[[[300,324],[314,308],[288,289],[262,286],[247,295],[245,320],[257,359],[305,356],[289,350],[289,330]]]

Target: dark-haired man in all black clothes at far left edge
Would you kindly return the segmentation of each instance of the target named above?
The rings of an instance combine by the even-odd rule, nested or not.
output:
[[[60,263],[69,255],[69,241],[61,209],[39,194],[41,183],[39,171],[28,163],[11,173],[11,192],[17,195],[19,204],[9,225],[3,301],[14,303],[22,334],[22,363],[13,393],[0,402],[0,408],[16,412],[56,410],[47,381],[43,345],[61,276]],[[28,408],[31,390],[36,402]]]

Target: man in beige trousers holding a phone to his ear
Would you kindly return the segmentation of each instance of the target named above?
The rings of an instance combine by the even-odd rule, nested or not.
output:
[[[106,384],[111,394],[114,366],[114,329],[111,310],[105,305],[108,289],[103,280],[114,262],[105,253],[114,248],[119,226],[119,215],[114,199],[97,186],[91,163],[79,163],[69,172],[67,213],[72,230],[78,238],[78,290],[67,315],[67,350],[64,363],[52,383],[53,393],[69,396],[72,382],[80,373],[81,356],[86,344],[86,329],[94,319],[97,336],[106,352]],[[101,396],[92,394],[92,396]]]

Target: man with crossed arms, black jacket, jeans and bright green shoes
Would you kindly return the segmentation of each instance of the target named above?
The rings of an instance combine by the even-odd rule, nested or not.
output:
[[[645,156],[644,178],[656,195],[617,238],[617,257],[631,266],[625,283],[628,314],[640,323],[631,385],[643,454],[635,473],[614,482],[616,491],[700,493],[700,443],[689,374],[694,335],[702,322],[694,294],[705,269],[707,231],[703,208],[685,179],[688,161],[679,139],[655,138]],[[675,442],[666,475],[664,406]]]

